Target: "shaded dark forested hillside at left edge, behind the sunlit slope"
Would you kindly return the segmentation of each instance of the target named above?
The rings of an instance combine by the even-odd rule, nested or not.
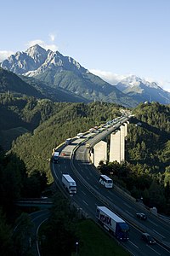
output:
[[[11,148],[12,141],[26,132],[33,130],[44,120],[58,111],[59,106],[50,100],[32,96],[0,95],[0,137],[5,150]]]

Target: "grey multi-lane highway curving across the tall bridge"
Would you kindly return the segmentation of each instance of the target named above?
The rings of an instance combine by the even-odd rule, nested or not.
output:
[[[76,138],[71,145],[62,148],[59,163],[52,163],[51,165],[55,183],[58,184],[63,193],[66,193],[61,183],[61,176],[63,173],[70,174],[77,182],[77,195],[73,195],[71,201],[77,204],[77,208],[87,212],[88,217],[93,218],[94,221],[96,221],[95,211],[97,206],[109,207],[112,212],[123,218],[130,226],[130,239],[126,242],[120,241],[120,243],[133,255],[169,255],[169,224],[150,213],[140,203],[130,200],[122,193],[118,193],[116,188],[105,189],[99,183],[99,173],[96,168],[88,161],[89,149],[86,148],[85,143],[94,145],[119,125],[117,123],[115,127],[108,126],[105,131],[95,134],[88,132],[83,138]],[[145,212],[148,219],[146,221],[137,219],[136,212]],[[156,244],[147,245],[142,241],[142,232],[148,232],[151,236],[154,236]]]

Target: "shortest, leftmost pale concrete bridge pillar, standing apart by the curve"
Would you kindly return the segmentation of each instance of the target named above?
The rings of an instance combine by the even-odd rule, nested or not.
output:
[[[94,166],[99,166],[99,162],[107,160],[107,143],[100,141],[94,146]]]

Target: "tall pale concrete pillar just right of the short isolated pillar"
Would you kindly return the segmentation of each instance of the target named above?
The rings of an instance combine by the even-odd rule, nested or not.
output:
[[[121,163],[121,131],[116,130],[111,133],[110,144],[110,162],[117,161]]]

